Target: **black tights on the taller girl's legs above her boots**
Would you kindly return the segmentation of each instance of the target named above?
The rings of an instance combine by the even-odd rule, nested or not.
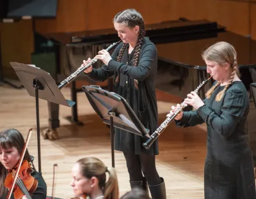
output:
[[[161,179],[156,170],[155,156],[149,156],[143,153],[136,155],[126,152],[124,152],[124,156],[130,175],[130,181],[141,181],[144,175],[148,181],[148,185],[153,186],[161,183]]]

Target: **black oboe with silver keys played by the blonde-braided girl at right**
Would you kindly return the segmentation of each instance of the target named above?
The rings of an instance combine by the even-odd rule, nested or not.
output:
[[[202,82],[200,85],[198,85],[198,87],[195,89],[194,92],[196,92],[196,94],[198,94],[198,92],[200,91],[200,89],[202,89],[202,87],[204,87],[205,84],[207,84],[209,82],[209,80],[211,79],[211,77],[209,77],[207,80],[204,80],[204,82]],[[145,147],[146,149],[149,149],[150,146],[155,142],[155,140],[159,137],[159,135],[161,135],[164,131],[164,129],[173,121],[173,119],[180,113],[182,112],[182,110],[187,107],[188,105],[184,102],[182,102],[180,104],[180,107],[177,108],[177,110],[175,112],[173,112],[172,115],[170,115],[169,117],[166,118],[166,120],[159,126],[159,128],[156,129],[156,131],[154,131],[154,133],[152,133],[152,135],[150,136],[150,138],[148,138],[148,140],[146,142],[143,143],[143,147]]]

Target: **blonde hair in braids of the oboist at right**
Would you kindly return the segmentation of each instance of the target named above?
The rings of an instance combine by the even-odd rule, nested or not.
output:
[[[211,45],[211,47],[207,48],[202,53],[202,58],[207,61],[215,61],[216,63],[220,64],[221,66],[225,64],[230,64],[230,68],[232,69],[232,73],[230,76],[230,79],[228,81],[228,84],[225,86],[225,88],[220,91],[215,100],[220,101],[223,97],[225,91],[227,91],[228,87],[232,85],[232,82],[234,80],[235,75],[240,76],[238,65],[237,65],[237,53],[235,48],[230,45],[230,43],[227,43],[225,41],[220,41],[217,43],[214,43],[214,45]],[[217,82],[207,93],[205,94],[205,97],[209,99],[211,97],[212,92],[218,85],[220,85],[221,82]]]

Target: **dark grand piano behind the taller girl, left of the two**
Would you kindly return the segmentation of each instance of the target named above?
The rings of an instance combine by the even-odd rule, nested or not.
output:
[[[207,20],[189,21],[186,18],[179,20],[149,24],[146,26],[147,36],[156,44],[166,44],[179,41],[201,40],[202,38],[216,38],[218,33],[225,31],[224,27],[216,22]],[[49,72],[56,83],[67,78],[83,62],[83,59],[94,57],[99,50],[109,44],[120,40],[115,29],[98,31],[83,31],[76,33],[35,33],[35,52],[32,54],[32,63]],[[168,50],[168,49],[167,49]],[[166,62],[164,62],[166,63]],[[94,68],[102,65],[99,61],[93,64]],[[167,66],[169,67],[169,66]],[[82,74],[76,80],[87,80],[90,84],[97,84]],[[107,89],[111,90],[113,80],[109,78]],[[76,93],[81,89],[76,88],[76,82],[71,84],[72,101],[76,101]],[[49,129],[60,126],[58,120],[58,105],[49,104]],[[78,121],[77,106],[72,107],[72,122]]]

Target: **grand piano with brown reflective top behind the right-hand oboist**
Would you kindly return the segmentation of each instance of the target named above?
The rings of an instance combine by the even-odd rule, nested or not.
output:
[[[214,38],[156,44],[156,88],[186,98],[189,92],[207,78],[202,52],[218,41],[227,41],[236,48],[241,80],[249,89],[250,83],[256,82],[256,41],[230,31],[218,33]],[[205,91],[207,89],[205,87]]]

